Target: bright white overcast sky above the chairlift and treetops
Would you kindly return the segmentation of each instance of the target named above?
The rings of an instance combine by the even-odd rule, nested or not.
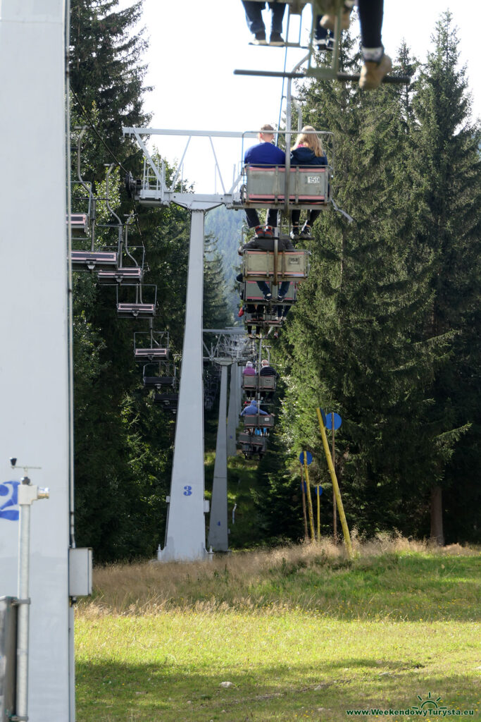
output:
[[[121,6],[132,0],[120,0]],[[431,47],[436,20],[446,9],[458,28],[462,64],[467,64],[473,111],[481,116],[481,1],[385,0],[383,42],[395,58],[403,39],[420,61]],[[266,22],[270,14],[265,11]],[[284,31],[286,30],[286,18]],[[310,27],[310,8],[304,9],[301,31]],[[289,37],[298,35],[299,16],[291,21]],[[306,51],[249,45],[240,0],[144,0],[144,19],[150,47],[145,108],[153,113],[151,126],[164,129],[246,131],[262,123],[278,123],[282,80],[242,77],[234,69],[292,69]],[[269,27],[268,27],[269,30]],[[186,139],[156,138],[169,160],[180,159]],[[151,142],[152,145],[152,142]],[[214,147],[229,186],[234,163],[241,158],[240,142],[216,140]],[[193,140],[185,156],[185,175],[198,191],[213,191],[212,151],[208,140]],[[217,191],[220,191],[217,182]]]

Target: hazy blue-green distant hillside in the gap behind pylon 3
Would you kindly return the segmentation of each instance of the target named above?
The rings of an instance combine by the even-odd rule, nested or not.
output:
[[[239,310],[239,294],[235,277],[239,273],[240,256],[237,254],[241,242],[241,228],[245,215],[242,211],[232,211],[219,206],[206,215],[206,235],[211,234],[218,239],[217,249],[224,259],[226,286],[229,302],[237,319]]]

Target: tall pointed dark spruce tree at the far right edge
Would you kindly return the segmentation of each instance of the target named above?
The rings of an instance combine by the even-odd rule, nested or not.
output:
[[[411,130],[418,243],[431,257],[432,303],[420,338],[438,346],[444,341],[427,393],[433,401],[422,419],[429,429],[431,536],[442,544],[443,509],[451,539],[467,539],[476,523],[470,509],[479,501],[481,134],[469,119],[466,68],[459,67],[449,12],[441,15],[432,39]],[[442,494],[454,484],[449,508]],[[454,510],[467,518],[456,521]]]

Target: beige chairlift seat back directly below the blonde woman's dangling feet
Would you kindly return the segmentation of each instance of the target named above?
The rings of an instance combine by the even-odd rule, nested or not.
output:
[[[280,251],[277,256],[277,277],[281,281],[306,279],[309,274],[309,251]],[[242,256],[244,281],[268,281],[274,277],[274,253],[244,251]]]

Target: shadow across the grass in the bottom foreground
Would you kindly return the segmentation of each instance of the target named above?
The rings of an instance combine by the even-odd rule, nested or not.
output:
[[[77,664],[77,710],[81,722],[293,721],[300,710],[311,720],[339,722],[346,709],[410,708],[417,695],[435,690],[461,708],[474,707],[469,684],[459,674],[423,674],[423,665],[403,661],[343,658],[296,665],[199,674],[165,664]],[[376,674],[373,674],[373,670]],[[221,682],[231,682],[221,687]],[[454,702],[456,700],[456,702]],[[319,709],[322,715],[319,716]],[[308,714],[309,713],[309,714]],[[312,716],[311,716],[312,713]],[[410,721],[416,716],[403,716]]]

